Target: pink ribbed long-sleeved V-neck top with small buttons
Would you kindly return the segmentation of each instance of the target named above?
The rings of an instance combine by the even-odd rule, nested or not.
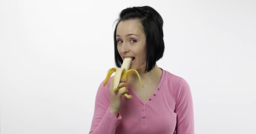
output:
[[[128,86],[133,98],[122,96],[116,117],[109,111],[112,77],[107,85],[99,85],[89,134],[194,134],[192,95],[183,78],[163,70],[155,92],[144,103]]]

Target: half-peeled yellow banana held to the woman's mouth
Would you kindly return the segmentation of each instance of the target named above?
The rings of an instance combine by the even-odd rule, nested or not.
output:
[[[113,68],[110,68],[108,71],[107,71],[107,76],[103,82],[103,86],[105,86],[107,84],[107,81],[109,80],[109,77],[112,75],[112,73],[115,72],[115,76],[114,76],[114,83],[113,83],[113,91],[120,91],[120,90],[124,90],[126,89],[127,87],[121,87],[119,89],[117,89],[119,83],[120,83],[120,79],[127,79],[126,83],[128,83],[128,78],[129,78],[129,75],[131,74],[136,74],[138,77],[139,77],[139,82],[141,83],[141,86],[143,86],[142,82],[141,82],[141,78],[139,76],[139,73],[136,71],[136,70],[129,70],[130,68],[130,65],[131,65],[131,62],[132,62],[132,59],[133,58],[125,58],[123,60],[123,64],[121,67],[113,67]],[[132,98],[132,95],[128,95],[127,93],[124,93],[123,94],[126,98]]]

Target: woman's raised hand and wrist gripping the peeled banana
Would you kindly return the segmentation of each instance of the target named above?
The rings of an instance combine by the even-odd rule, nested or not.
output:
[[[127,79],[121,79],[117,89],[123,86],[127,87],[128,84],[126,83],[126,81]],[[117,117],[117,114],[122,105],[122,95],[123,93],[127,93],[128,90],[127,89],[120,90],[120,91],[117,90],[117,92],[113,91],[112,90],[113,82],[114,82],[114,77],[112,77],[111,84],[109,87],[109,100],[110,100],[109,110],[111,111],[112,114],[114,114]]]

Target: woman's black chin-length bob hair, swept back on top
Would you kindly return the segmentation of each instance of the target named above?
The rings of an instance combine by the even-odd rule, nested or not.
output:
[[[121,67],[123,59],[117,51],[116,31],[120,21],[139,18],[143,26],[146,36],[146,68],[145,72],[150,72],[155,67],[156,62],[163,57],[165,49],[163,41],[163,18],[161,15],[150,6],[126,8],[119,14],[114,32],[115,46],[115,64]]]

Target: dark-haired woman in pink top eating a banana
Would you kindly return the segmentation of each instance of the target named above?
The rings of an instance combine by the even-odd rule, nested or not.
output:
[[[121,67],[125,57],[134,57],[128,84],[120,80],[114,92],[113,76],[103,81],[96,95],[90,134],[194,134],[192,96],[181,77],[158,67],[163,57],[163,19],[149,6],[126,8],[120,13],[114,32],[115,63]],[[132,99],[122,94],[127,92]]]

